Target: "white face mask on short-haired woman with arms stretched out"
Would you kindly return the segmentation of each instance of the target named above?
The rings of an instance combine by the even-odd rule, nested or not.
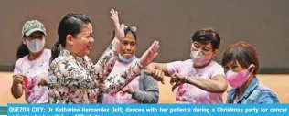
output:
[[[203,65],[209,62],[210,59],[205,58],[205,56],[199,51],[191,51],[190,58],[192,58],[193,63],[197,65]]]

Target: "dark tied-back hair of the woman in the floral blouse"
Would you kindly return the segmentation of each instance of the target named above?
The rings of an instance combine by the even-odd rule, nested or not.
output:
[[[51,61],[59,57],[59,45],[65,47],[66,37],[68,35],[76,37],[76,35],[80,33],[82,26],[88,23],[91,23],[91,19],[83,14],[70,13],[62,18],[58,29],[59,39],[51,48]]]

